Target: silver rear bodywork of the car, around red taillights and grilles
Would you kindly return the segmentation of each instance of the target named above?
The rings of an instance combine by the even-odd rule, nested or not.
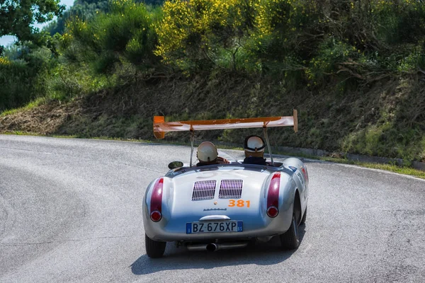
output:
[[[280,173],[279,213],[275,218],[271,218],[266,214],[267,195],[271,178],[276,172]],[[207,241],[275,236],[289,229],[296,194],[300,196],[300,219],[307,207],[307,168],[297,158],[286,158],[283,163],[276,163],[275,166],[248,165],[237,161],[202,167],[186,166],[173,169],[162,178],[162,219],[154,222],[149,216],[152,189],[157,179],[147,187],[143,202],[145,233],[154,241]],[[220,198],[222,180],[242,180],[240,197]],[[196,182],[203,181],[215,181],[211,189],[213,195],[210,194],[208,200],[192,200]],[[239,207],[233,205],[237,204],[238,200],[243,201],[244,205],[242,206],[242,202]],[[186,233],[187,223],[203,218],[243,221],[243,231]]]

